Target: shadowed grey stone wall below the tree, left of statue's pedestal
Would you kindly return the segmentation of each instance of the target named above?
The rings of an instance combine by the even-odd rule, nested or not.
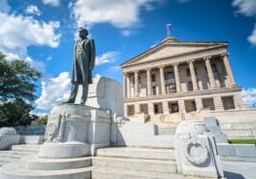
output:
[[[45,135],[46,125],[19,125],[15,127],[19,135]]]

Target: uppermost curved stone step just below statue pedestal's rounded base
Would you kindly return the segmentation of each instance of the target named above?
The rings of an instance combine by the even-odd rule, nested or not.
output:
[[[37,156],[27,156],[19,161],[19,168],[40,169],[40,170],[60,170],[72,168],[84,168],[91,166],[91,157],[72,159],[42,159]]]

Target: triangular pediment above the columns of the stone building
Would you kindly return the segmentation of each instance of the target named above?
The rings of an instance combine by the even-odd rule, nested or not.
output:
[[[163,42],[149,51],[139,54],[136,57],[128,60],[122,66],[139,64],[144,62],[150,62],[161,58],[177,56],[181,54],[198,53],[211,48],[217,48],[220,46],[227,46],[227,43],[214,43],[214,42],[189,42],[189,43],[168,43]]]

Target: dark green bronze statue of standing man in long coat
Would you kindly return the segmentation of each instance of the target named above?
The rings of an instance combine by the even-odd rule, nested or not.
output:
[[[83,86],[81,104],[85,104],[88,97],[89,84],[92,84],[92,70],[95,64],[95,46],[93,39],[88,38],[86,28],[79,29],[80,40],[75,45],[72,72],[72,88],[68,103],[74,103],[79,85]]]

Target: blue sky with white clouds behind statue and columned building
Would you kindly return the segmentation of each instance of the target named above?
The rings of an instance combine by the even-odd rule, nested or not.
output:
[[[67,98],[77,27],[96,44],[100,74],[122,82],[120,64],[166,37],[229,41],[230,61],[244,99],[256,102],[255,0],[0,0],[0,51],[43,72],[36,112]]]

